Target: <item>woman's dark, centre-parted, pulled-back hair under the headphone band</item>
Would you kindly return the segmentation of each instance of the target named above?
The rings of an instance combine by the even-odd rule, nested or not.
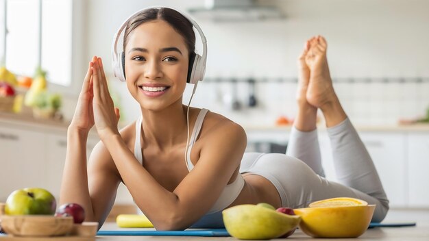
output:
[[[190,55],[195,52],[195,33],[193,31],[191,21],[189,21],[188,18],[183,16],[180,12],[171,8],[149,8],[130,19],[127,23],[127,27],[125,27],[123,35],[123,50],[125,51],[128,36],[134,29],[136,29],[136,27],[142,23],[147,23],[157,19],[161,19],[169,23],[169,25],[171,25],[171,27],[173,27],[173,29],[175,29],[175,31],[184,38]]]

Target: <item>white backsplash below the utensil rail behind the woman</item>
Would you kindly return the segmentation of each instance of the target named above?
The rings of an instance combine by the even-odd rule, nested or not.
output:
[[[282,115],[294,118],[296,79],[256,79],[256,107],[249,106],[251,86],[242,80],[238,79],[234,88],[230,79],[209,78],[199,84],[191,105],[206,107],[247,126],[272,126]],[[184,103],[190,89],[184,94]],[[426,115],[429,107],[428,78],[334,79],[334,89],[357,125],[395,125],[400,119]]]

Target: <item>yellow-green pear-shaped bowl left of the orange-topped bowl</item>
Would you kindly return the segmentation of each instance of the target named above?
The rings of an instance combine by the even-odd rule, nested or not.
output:
[[[263,205],[243,204],[222,212],[228,233],[241,240],[278,238],[295,229],[301,218],[287,215]]]

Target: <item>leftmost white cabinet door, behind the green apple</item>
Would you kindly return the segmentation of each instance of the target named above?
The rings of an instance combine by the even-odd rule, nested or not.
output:
[[[0,201],[16,189],[45,186],[45,143],[42,132],[0,127]]]

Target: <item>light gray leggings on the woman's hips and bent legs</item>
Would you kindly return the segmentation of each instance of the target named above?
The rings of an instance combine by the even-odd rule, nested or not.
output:
[[[328,135],[339,183],[324,177],[317,130],[303,132],[292,128],[286,155],[245,153],[240,172],[271,181],[283,207],[306,207],[313,201],[348,196],[376,204],[372,221],[381,222],[389,210],[389,200],[352,123],[347,118],[328,128]]]

